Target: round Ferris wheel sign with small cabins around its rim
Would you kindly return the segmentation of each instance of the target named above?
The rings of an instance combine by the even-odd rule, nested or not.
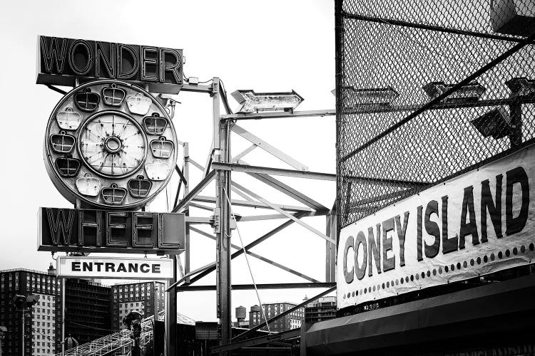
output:
[[[73,204],[136,209],[168,183],[176,164],[173,122],[146,90],[118,80],[80,85],[56,105],[44,159]]]

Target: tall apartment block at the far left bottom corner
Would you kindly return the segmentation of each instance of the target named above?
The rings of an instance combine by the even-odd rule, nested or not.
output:
[[[23,315],[11,300],[14,295],[39,295],[39,302]],[[0,325],[7,328],[3,355],[44,356],[61,351],[61,282],[56,276],[23,268],[0,271]]]

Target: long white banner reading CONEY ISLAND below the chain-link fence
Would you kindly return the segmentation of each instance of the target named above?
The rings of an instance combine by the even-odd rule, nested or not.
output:
[[[338,308],[534,261],[534,162],[531,145],[346,226]]]

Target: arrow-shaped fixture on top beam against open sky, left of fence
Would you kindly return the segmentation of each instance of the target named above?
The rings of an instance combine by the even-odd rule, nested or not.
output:
[[[301,95],[291,92],[255,93],[255,90],[236,90],[231,94],[242,107],[238,112],[293,112],[304,100]]]

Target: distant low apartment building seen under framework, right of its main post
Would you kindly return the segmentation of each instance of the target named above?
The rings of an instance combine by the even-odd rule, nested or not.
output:
[[[264,314],[265,318],[268,320],[273,318],[275,315],[279,315],[290,308],[295,307],[295,303],[290,302],[277,302],[264,304]],[[259,325],[265,321],[264,315],[258,305],[253,305],[250,308],[249,312],[249,328],[253,328],[255,325]],[[295,328],[300,328],[302,321],[305,319],[305,308],[299,308],[292,311],[280,319],[275,320],[273,323],[270,323],[270,331],[278,333],[281,331],[287,331]],[[260,328],[260,330],[267,330],[266,327]]]

